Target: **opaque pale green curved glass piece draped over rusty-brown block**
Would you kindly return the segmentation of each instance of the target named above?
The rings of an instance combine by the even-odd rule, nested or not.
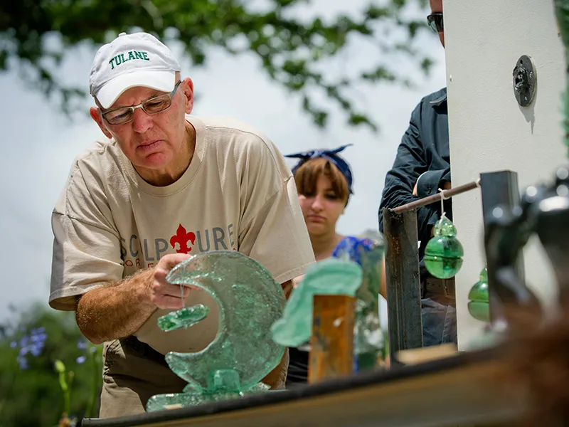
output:
[[[282,317],[272,325],[272,339],[287,347],[298,347],[309,341],[314,295],[353,297],[361,278],[361,267],[351,260],[327,258],[312,264],[302,283],[290,295]]]

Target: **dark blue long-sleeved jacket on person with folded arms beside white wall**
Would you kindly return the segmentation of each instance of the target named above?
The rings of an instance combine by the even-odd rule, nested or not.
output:
[[[418,179],[418,196],[413,196],[413,187]],[[383,233],[383,208],[396,208],[436,194],[443,185],[442,181],[450,182],[446,88],[422,98],[411,114],[409,127],[401,139],[393,168],[385,176],[378,213],[380,231]],[[432,226],[440,218],[440,214],[440,203],[417,210],[421,259],[425,245],[431,237]],[[450,201],[445,201],[445,214],[452,219]]]

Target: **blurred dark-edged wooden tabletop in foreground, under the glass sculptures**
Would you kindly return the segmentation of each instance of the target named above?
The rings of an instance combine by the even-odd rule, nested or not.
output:
[[[523,384],[504,381],[508,365],[454,362],[465,357],[360,374],[374,379],[365,384],[361,376],[336,379],[191,408],[87,419],[83,427],[523,426],[531,401]]]

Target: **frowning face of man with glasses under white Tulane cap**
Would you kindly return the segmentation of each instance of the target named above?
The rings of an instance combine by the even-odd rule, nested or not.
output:
[[[105,111],[139,105],[156,95],[164,93],[144,87],[130,88]],[[193,83],[186,78],[174,93],[171,106],[157,114],[148,115],[142,108],[137,108],[130,122],[111,125],[102,118],[99,108],[92,107],[90,113],[102,132],[115,139],[139,173],[152,175],[169,170],[169,165],[179,161],[176,154],[186,143],[185,115],[190,114],[192,108]]]

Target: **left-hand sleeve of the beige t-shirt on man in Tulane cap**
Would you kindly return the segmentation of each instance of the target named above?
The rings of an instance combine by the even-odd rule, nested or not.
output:
[[[55,310],[75,310],[77,295],[122,278],[119,235],[107,209],[102,186],[87,185],[75,166],[51,217],[49,305]]]

